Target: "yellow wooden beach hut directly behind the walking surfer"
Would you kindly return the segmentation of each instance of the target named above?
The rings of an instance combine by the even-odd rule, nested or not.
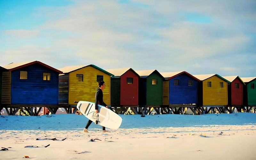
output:
[[[67,66],[59,69],[59,104],[76,105],[74,101],[95,100],[98,82],[104,81],[103,101],[110,105],[110,76],[111,73],[93,64],[82,66]]]

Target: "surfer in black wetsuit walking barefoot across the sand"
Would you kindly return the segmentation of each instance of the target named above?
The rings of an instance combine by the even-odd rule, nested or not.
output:
[[[95,113],[99,113],[98,111],[98,104],[101,106],[105,106],[106,108],[108,108],[108,106],[106,105],[106,103],[103,102],[103,90],[105,89],[105,82],[104,81],[100,81],[98,83],[99,89],[96,92],[95,95]],[[89,120],[84,128],[84,132],[88,132],[87,129],[90,126],[90,124],[92,123],[91,120]],[[104,126],[102,126],[102,130],[103,132],[106,132],[106,128]]]

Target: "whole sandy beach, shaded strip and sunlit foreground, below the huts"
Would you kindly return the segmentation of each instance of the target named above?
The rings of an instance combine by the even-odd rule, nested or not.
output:
[[[120,116],[119,129],[84,133],[83,115],[2,115],[0,159],[256,159],[252,113]]]

